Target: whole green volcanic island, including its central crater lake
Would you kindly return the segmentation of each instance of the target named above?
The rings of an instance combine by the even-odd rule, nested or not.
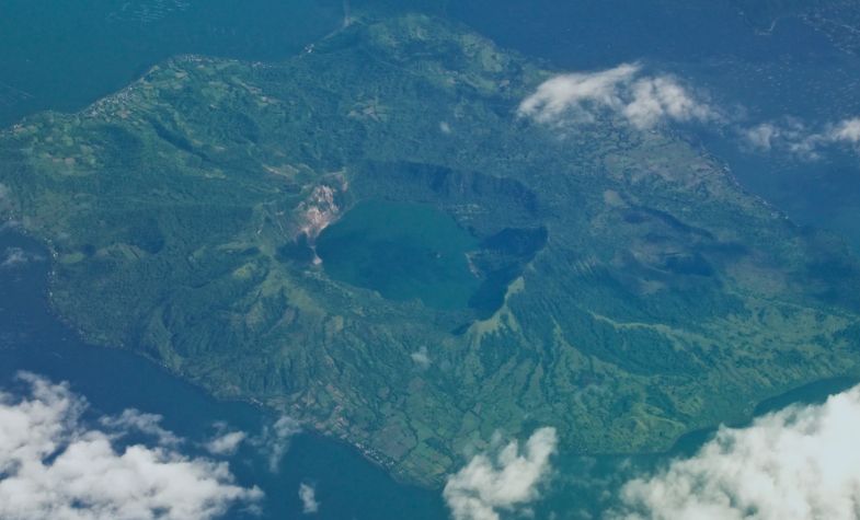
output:
[[[549,74],[421,16],[283,63],[175,58],[5,131],[0,208],[91,340],[426,483],[496,430],[662,450],[858,373],[837,241],[668,130],[517,117]]]

